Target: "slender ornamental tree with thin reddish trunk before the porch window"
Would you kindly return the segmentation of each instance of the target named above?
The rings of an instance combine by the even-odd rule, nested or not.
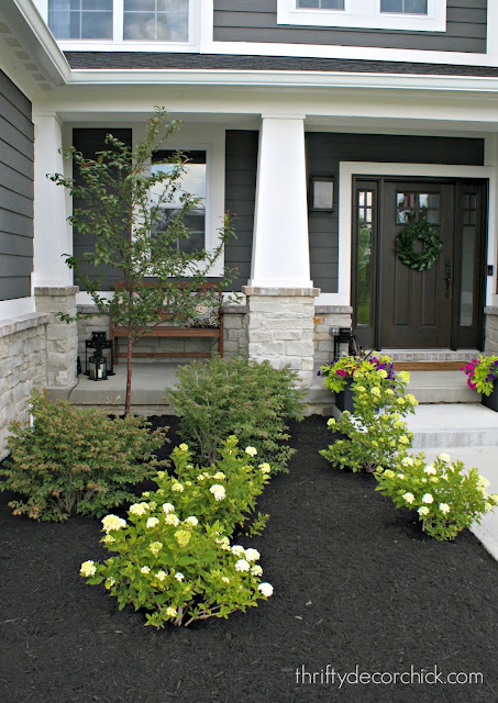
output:
[[[91,295],[97,314],[112,315],[126,330],[125,414],[130,412],[133,342],[144,334],[144,327],[163,321],[161,313],[166,298],[170,322],[186,324],[199,304],[199,297],[193,293],[207,280],[233,234],[225,215],[214,246],[179,247],[179,242],[190,237],[185,217],[200,202],[181,188],[188,156],[176,152],[159,161],[167,165],[164,169],[151,169],[153,156],[157,164],[158,149],[179,124],[169,120],[164,108],[155,108],[144,140],[134,148],[108,134],[107,148],[98,152],[96,159],[85,158],[75,147],[65,154],[66,159],[73,160],[79,178],[47,175],[74,198],[74,211],[68,217],[73,228],[95,242],[81,257],[65,255],[66,264]],[[88,268],[91,276],[86,274]],[[110,270],[119,276],[123,287],[102,293]],[[225,271],[220,289],[229,278]],[[144,286],[151,279],[157,284]],[[178,279],[185,281],[184,287],[176,286]],[[202,293],[202,302],[219,306],[222,301],[218,291],[208,290]],[[95,314],[80,313],[77,317]],[[64,313],[59,316],[67,322],[74,320]]]

